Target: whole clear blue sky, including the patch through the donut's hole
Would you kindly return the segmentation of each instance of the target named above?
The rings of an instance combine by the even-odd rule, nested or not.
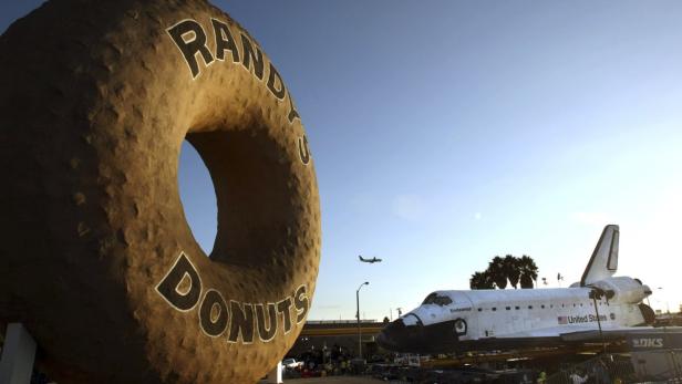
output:
[[[0,4],[0,30],[37,3]],[[352,319],[363,281],[364,316],[412,309],[495,255],[566,286],[609,222],[619,274],[654,288],[654,308],[680,303],[682,2],[214,3],[276,63],[308,132],[323,217],[311,319]],[[210,249],[215,197],[192,148],[179,185]]]

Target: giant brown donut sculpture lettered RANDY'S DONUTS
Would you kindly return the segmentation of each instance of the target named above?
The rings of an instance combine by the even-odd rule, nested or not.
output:
[[[53,0],[0,38],[0,322],[63,383],[254,383],[314,290],[320,209],[281,76],[199,0]],[[216,189],[206,256],[177,189]]]

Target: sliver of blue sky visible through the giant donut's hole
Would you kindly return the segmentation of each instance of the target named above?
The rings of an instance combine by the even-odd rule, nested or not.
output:
[[[216,189],[202,156],[187,139],[180,148],[177,179],[192,235],[204,253],[210,255],[218,228]]]

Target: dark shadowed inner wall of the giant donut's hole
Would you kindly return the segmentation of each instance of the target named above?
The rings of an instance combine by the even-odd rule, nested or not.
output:
[[[281,267],[294,255],[303,209],[292,174],[298,157],[267,128],[202,129],[186,139],[206,164],[216,193],[217,231],[210,259],[229,264]],[[248,125],[248,124],[247,124]],[[296,153],[297,154],[297,153]]]

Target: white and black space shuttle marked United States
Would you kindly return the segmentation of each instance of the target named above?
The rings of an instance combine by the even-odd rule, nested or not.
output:
[[[619,227],[603,229],[582,278],[569,288],[435,291],[389,323],[376,343],[412,353],[508,350],[623,340],[661,332],[642,301],[651,289],[639,279],[613,277]],[[680,332],[680,328],[668,332]]]

